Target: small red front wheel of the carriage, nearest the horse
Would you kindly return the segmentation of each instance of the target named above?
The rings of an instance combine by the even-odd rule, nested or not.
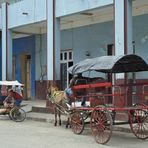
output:
[[[71,128],[75,134],[81,134],[84,130],[84,119],[80,112],[75,112],[71,116]]]

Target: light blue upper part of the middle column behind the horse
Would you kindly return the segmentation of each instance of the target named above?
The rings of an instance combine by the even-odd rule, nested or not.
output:
[[[60,19],[53,19],[53,9],[53,1],[47,1],[47,80],[60,79]]]

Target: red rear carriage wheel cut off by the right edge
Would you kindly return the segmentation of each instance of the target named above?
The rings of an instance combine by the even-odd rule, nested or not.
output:
[[[148,110],[132,109],[129,111],[130,128],[139,139],[148,138]]]

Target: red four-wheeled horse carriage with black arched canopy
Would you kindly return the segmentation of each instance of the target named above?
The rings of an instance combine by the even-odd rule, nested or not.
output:
[[[80,79],[72,87],[75,101],[69,115],[73,132],[82,133],[88,123],[96,142],[104,144],[110,140],[113,125],[129,124],[137,138],[148,138],[148,81],[136,79],[136,72],[148,71],[147,63],[133,54],[102,56],[68,69],[72,75],[92,71],[105,73],[110,81]],[[82,98],[89,103],[77,106]]]

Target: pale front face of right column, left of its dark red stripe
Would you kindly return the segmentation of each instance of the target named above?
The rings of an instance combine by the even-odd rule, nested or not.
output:
[[[124,0],[114,0],[115,55],[124,55]]]

